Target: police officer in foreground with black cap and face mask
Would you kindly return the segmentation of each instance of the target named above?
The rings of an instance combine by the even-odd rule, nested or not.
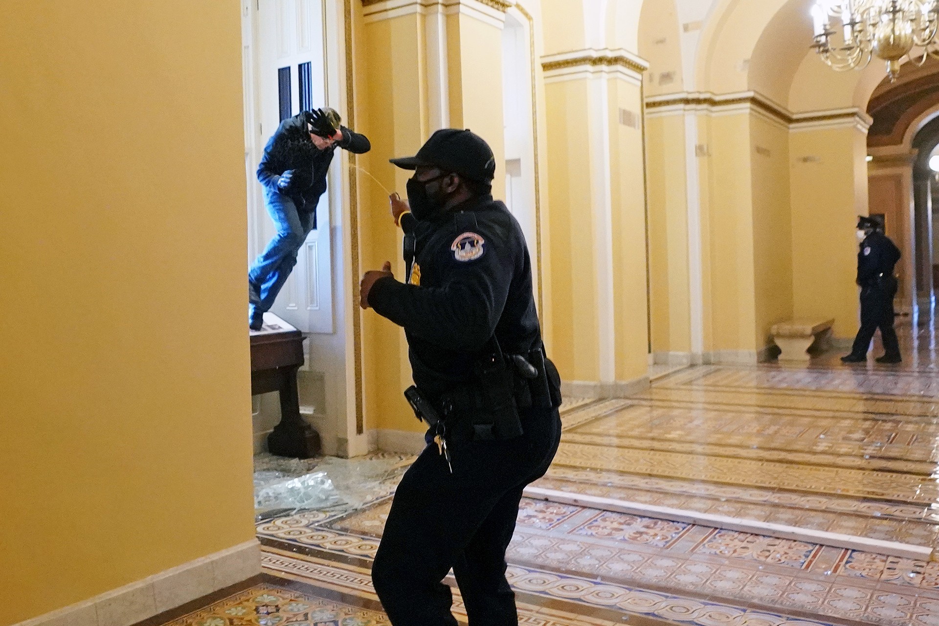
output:
[[[397,488],[372,578],[394,626],[456,626],[441,582],[451,568],[471,626],[515,626],[505,550],[522,490],[561,437],[561,381],[544,357],[531,260],[518,222],[490,195],[495,159],[482,138],[438,130],[392,162],[415,171],[414,263],[407,282],[389,263],[367,272],[361,304],[405,328],[408,400],[439,422]]]

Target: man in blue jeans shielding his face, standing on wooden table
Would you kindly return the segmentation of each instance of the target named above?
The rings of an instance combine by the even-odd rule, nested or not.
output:
[[[316,205],[326,191],[326,175],[336,146],[362,154],[372,145],[365,135],[341,126],[332,109],[304,111],[281,122],[264,148],[257,179],[277,235],[248,271],[248,324],[260,330],[264,312],[290,271],[307,235],[316,228]]]

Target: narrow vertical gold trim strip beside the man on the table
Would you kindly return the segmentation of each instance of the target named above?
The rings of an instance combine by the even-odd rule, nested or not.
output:
[[[366,0],[362,0],[363,3]],[[352,51],[352,0],[343,3],[343,17],[346,30],[346,119],[349,128],[355,128],[355,69]],[[362,310],[355,301],[359,293],[359,274],[362,271],[362,259],[359,256],[359,179],[354,167],[357,157],[347,153],[349,164],[349,256],[352,265],[352,284],[349,301],[346,306],[352,314],[352,358],[355,373],[355,431],[357,435],[365,433],[364,388],[362,385]]]

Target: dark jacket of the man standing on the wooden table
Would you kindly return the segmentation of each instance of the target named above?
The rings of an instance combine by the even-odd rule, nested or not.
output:
[[[296,170],[287,196],[297,205],[298,211],[316,214],[319,196],[326,191],[326,175],[330,170],[335,146],[355,154],[363,154],[372,148],[365,135],[346,127],[340,128],[343,132],[342,141],[319,150],[310,139],[305,114],[288,117],[281,122],[264,147],[264,156],[257,166],[257,179],[269,190],[278,191],[277,181],[280,176],[287,170]]]

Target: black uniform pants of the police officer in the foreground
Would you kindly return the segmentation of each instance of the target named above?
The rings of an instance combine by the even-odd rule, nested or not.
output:
[[[508,441],[454,441],[454,473],[431,444],[408,469],[372,566],[394,626],[456,626],[442,583],[453,568],[470,626],[516,626],[505,550],[522,490],[545,475],[561,440],[557,409],[522,415],[524,435]]]

